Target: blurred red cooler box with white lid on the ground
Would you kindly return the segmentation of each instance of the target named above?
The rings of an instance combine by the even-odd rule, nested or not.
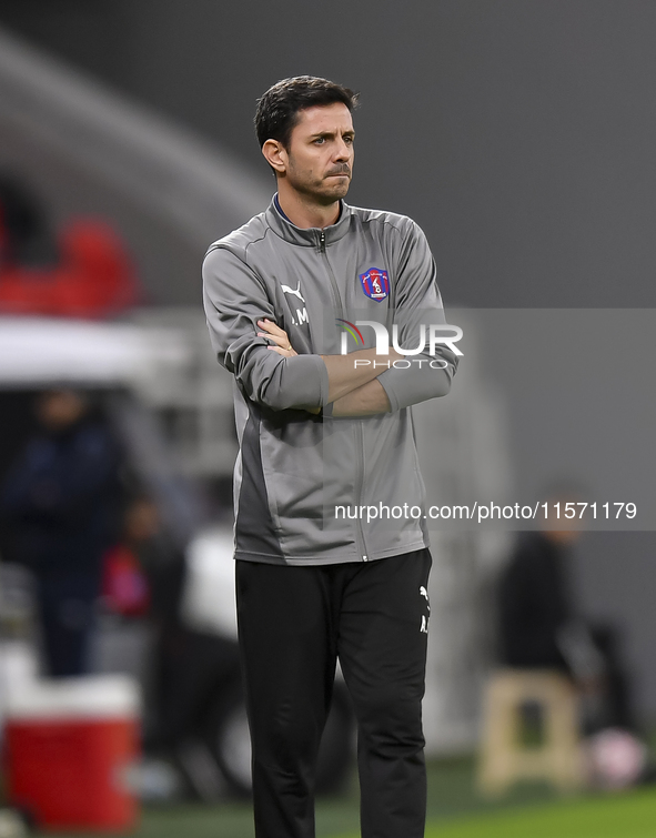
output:
[[[128,831],[139,804],[139,714],[121,676],[40,681],[17,697],[4,738],[7,795],[41,829]]]

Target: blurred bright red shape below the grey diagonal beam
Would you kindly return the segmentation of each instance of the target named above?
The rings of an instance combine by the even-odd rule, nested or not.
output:
[[[139,301],[131,260],[109,224],[73,221],[59,249],[60,263],[53,266],[10,262],[0,267],[0,312],[102,319]]]

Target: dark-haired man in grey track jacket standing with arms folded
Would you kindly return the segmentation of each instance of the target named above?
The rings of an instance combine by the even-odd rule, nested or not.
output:
[[[444,322],[421,230],[343,201],[355,103],[312,77],[262,97],[255,128],[277,194],[213,244],[203,269],[212,342],[236,385],[238,616],[258,838],[314,835],[337,658],[359,724],[362,835],[424,834],[427,537],[421,515],[376,526],[360,512],[421,508],[410,405],[447,393],[456,359],[417,346],[422,324]],[[374,327],[363,335],[354,321]],[[379,324],[398,337],[382,356],[370,347],[385,334]],[[408,345],[415,363],[398,351]]]

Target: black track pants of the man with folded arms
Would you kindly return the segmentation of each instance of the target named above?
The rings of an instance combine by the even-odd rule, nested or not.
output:
[[[238,561],[258,838],[314,838],[314,768],[339,656],[357,717],[363,838],[423,838],[431,554],[290,567]]]

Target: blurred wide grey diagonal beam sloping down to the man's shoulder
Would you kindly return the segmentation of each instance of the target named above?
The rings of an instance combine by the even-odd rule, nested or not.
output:
[[[1,30],[0,149],[58,219],[111,218],[155,302],[190,282],[200,300],[209,243],[270,200],[224,152]]]

